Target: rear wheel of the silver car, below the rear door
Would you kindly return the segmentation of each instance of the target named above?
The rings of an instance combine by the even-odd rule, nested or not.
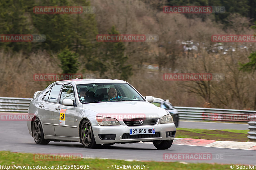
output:
[[[36,144],[49,144],[50,141],[44,139],[44,131],[38,118],[33,122],[32,133]]]

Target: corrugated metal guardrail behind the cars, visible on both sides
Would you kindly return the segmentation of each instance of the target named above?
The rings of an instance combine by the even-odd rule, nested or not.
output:
[[[0,97],[0,112],[27,113],[32,98]],[[256,115],[255,110],[217,109],[204,107],[174,107],[179,111],[180,120],[237,121],[249,122],[248,116]]]

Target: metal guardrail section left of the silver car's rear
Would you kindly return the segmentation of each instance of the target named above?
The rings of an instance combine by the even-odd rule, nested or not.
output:
[[[0,97],[0,112],[28,113],[32,98]]]

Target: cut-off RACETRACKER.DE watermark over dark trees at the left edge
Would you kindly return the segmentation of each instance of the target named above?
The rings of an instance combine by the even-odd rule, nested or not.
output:
[[[44,42],[44,34],[0,34],[0,42]]]

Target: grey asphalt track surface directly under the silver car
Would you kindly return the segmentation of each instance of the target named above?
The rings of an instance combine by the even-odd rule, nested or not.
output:
[[[115,144],[86,149],[76,142],[50,142],[37,145],[28,133],[26,121],[0,121],[0,150],[24,153],[73,153],[85,158],[108,158],[139,161],[164,160],[164,153],[210,153],[211,160],[177,160],[185,162],[255,165],[256,151],[173,144],[168,150],[157,150],[152,143]],[[173,161],[173,160],[172,160]],[[143,164],[143,163],[142,163]],[[104,165],[105,166],[105,165]],[[106,168],[109,165],[106,165]]]

